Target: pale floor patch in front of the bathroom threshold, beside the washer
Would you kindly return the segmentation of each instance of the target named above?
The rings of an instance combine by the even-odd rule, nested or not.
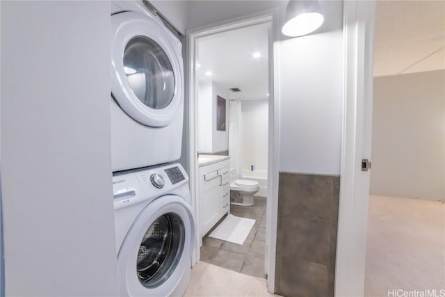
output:
[[[205,262],[192,269],[188,296],[278,296],[269,294],[264,278],[255,278]]]

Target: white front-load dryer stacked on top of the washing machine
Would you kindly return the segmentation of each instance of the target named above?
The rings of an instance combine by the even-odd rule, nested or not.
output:
[[[113,172],[181,156],[184,66],[181,42],[142,1],[111,3]]]

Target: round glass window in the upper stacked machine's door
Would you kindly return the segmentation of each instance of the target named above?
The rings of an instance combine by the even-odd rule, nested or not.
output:
[[[146,36],[124,49],[124,72],[134,95],[151,109],[165,109],[175,95],[175,74],[165,51]]]

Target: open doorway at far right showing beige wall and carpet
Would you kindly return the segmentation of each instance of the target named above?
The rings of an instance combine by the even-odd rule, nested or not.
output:
[[[443,1],[376,3],[365,296],[445,290],[444,27]]]

